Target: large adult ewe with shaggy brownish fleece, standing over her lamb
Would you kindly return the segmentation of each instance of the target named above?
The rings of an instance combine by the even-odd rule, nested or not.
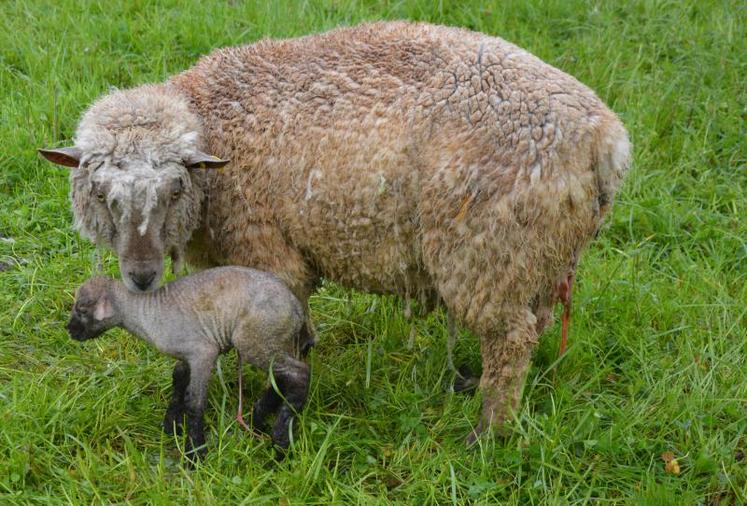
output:
[[[42,154],[73,167],[76,226],[130,290],[170,255],[271,271],[304,304],[324,277],[445,307],[480,339],[472,442],[518,409],[630,143],[594,92],[513,44],[383,22],[218,49],[101,98],[74,146]]]

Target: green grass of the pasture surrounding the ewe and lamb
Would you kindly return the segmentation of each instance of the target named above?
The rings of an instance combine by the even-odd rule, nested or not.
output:
[[[4,0],[0,31],[0,503],[741,504],[747,501],[747,11],[739,1]],[[463,445],[479,396],[450,392],[444,315],[325,285],[292,458],[239,430],[235,359],[210,389],[209,456],[160,430],[172,361],[64,323],[94,251],[71,229],[73,134],[110,86],[212,48],[362,20],[500,35],[594,88],[635,167],[583,257],[571,347],[535,354],[513,433]],[[105,256],[109,272],[116,262]],[[474,337],[457,347],[479,365]],[[256,396],[263,378],[246,374]],[[673,452],[681,474],[664,470]]]

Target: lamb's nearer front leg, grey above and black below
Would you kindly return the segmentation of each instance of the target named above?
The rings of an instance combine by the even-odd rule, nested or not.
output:
[[[217,352],[203,350],[202,353],[196,354],[189,360],[190,377],[184,405],[187,415],[186,455],[190,460],[202,457],[207,451],[203,413],[207,404],[210,375],[217,357]]]

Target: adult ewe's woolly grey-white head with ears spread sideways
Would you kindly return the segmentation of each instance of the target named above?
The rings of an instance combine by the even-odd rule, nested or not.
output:
[[[202,151],[199,118],[168,85],[115,91],[83,116],[71,148],[40,150],[72,167],[76,228],[119,257],[128,289],[156,288],[170,255],[178,271],[200,222],[201,169],[228,161]]]

